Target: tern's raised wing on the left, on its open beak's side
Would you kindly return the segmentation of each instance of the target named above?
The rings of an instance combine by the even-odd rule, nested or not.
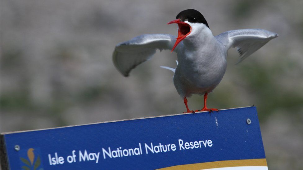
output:
[[[169,34],[144,34],[129,41],[121,42],[116,45],[113,53],[115,67],[124,76],[129,76],[129,72],[133,68],[151,59],[157,49],[160,51],[171,50],[176,41],[175,38],[175,36]]]

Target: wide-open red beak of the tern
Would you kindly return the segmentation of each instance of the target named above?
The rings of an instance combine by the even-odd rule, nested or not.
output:
[[[167,24],[178,24],[179,29],[178,29],[178,37],[177,40],[175,42],[175,45],[173,47],[173,49],[171,50],[171,52],[174,51],[175,47],[186,37],[188,36],[188,34],[192,31],[192,27],[190,27],[189,24],[182,22],[180,19],[177,20],[172,20]]]

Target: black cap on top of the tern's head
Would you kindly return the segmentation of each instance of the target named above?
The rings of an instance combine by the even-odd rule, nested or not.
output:
[[[181,11],[177,16],[176,19],[180,19],[181,21],[188,21],[191,23],[203,23],[206,27],[209,28],[204,16],[197,10],[194,9],[187,9]]]

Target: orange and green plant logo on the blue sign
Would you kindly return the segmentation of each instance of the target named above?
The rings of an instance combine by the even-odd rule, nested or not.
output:
[[[21,151],[20,156],[20,166],[24,170],[43,170],[42,162],[40,159],[40,150],[29,148],[27,151]]]

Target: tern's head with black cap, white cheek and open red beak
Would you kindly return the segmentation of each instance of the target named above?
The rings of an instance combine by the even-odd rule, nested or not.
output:
[[[179,26],[178,37],[171,51],[173,51],[184,38],[195,36],[204,28],[209,29],[204,16],[199,11],[194,9],[181,11],[176,16],[176,20],[172,20],[167,24],[178,24]]]

